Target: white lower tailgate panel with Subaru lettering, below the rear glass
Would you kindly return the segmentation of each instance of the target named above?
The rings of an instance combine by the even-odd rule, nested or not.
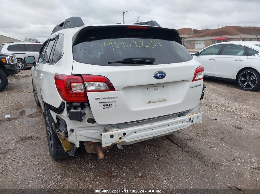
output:
[[[198,105],[202,80],[191,82],[196,67],[193,63],[104,67],[74,62],[73,74],[102,75],[116,91],[88,92],[91,111],[97,123],[116,124],[163,116],[194,108]],[[166,77],[156,80],[153,74],[164,71]]]

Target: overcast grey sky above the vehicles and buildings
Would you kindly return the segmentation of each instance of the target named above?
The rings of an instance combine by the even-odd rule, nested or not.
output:
[[[71,16],[88,24],[131,24],[155,20],[167,28],[260,26],[258,0],[1,0],[0,34],[46,40],[55,25]]]

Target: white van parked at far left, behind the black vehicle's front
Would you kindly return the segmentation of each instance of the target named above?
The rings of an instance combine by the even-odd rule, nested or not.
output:
[[[19,70],[24,70],[27,66],[33,66],[33,64],[26,64],[23,58],[26,56],[34,56],[35,59],[38,59],[41,47],[42,43],[10,42],[2,44],[0,51],[8,54],[15,54]]]

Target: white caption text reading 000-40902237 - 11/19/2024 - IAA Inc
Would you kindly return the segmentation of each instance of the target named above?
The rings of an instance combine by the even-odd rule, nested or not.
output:
[[[162,193],[160,189],[95,189],[95,193]]]

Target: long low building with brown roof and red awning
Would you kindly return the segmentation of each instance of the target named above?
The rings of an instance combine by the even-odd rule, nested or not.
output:
[[[202,49],[214,43],[239,40],[260,41],[260,27],[225,26],[182,38],[186,49]]]

